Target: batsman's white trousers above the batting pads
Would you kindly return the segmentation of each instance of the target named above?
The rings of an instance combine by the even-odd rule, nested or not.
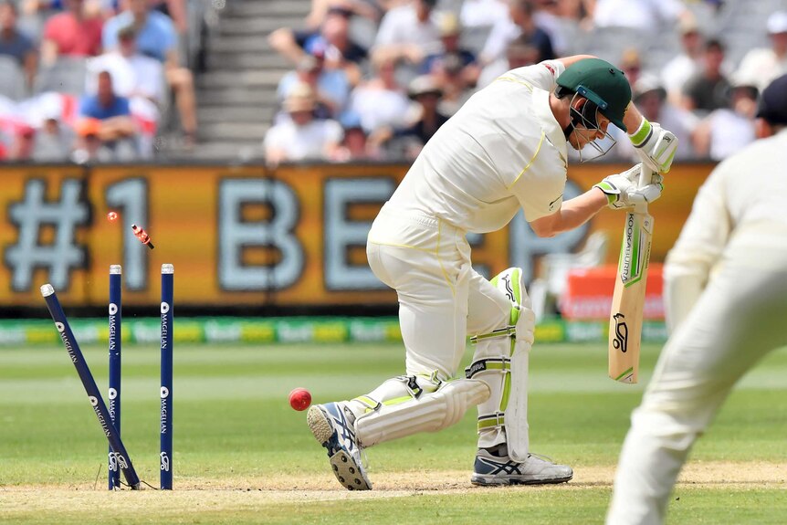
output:
[[[407,375],[456,377],[467,335],[509,322],[511,302],[472,268],[465,232],[456,226],[386,205],[366,254],[374,275],[396,290]]]

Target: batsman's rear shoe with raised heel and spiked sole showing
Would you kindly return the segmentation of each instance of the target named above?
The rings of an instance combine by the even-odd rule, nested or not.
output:
[[[361,448],[355,437],[355,415],[346,403],[315,404],[306,415],[311,434],[328,450],[333,475],[342,487],[371,490],[361,461]]]

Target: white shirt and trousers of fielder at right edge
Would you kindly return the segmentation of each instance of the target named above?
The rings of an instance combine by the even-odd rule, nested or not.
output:
[[[734,383],[787,345],[787,130],[720,163],[666,258],[672,333],[632,415],[607,523],[660,524],[694,441]]]

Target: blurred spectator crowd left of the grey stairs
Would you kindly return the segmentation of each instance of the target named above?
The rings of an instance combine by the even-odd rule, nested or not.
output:
[[[171,114],[191,147],[185,8],[186,0],[0,0],[0,160],[150,159]]]

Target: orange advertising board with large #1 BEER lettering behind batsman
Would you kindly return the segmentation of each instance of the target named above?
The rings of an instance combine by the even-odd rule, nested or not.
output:
[[[565,198],[589,189],[619,164],[572,166]],[[675,166],[652,207],[651,260],[663,260],[712,166]],[[0,308],[37,307],[50,282],[68,306],[103,307],[111,264],[123,267],[123,302],[159,302],[160,268],[175,268],[175,304],[235,306],[395,305],[366,264],[366,234],[404,177],[404,164],[281,166],[124,165],[2,168]],[[110,212],[118,214],[110,221]],[[532,278],[540,257],[572,252],[593,231],[620,240],[622,215],[542,239],[517,216],[507,227],[470,235],[475,268],[509,266]],[[142,226],[155,249],[131,231]],[[617,250],[607,262],[614,264]]]

